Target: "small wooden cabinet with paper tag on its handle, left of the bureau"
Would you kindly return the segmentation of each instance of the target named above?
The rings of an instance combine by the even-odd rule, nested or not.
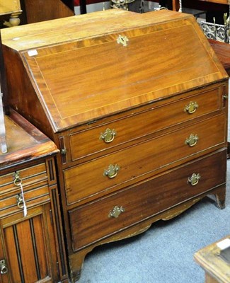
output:
[[[0,154],[0,282],[64,282],[57,148],[13,110],[5,119],[8,152]]]

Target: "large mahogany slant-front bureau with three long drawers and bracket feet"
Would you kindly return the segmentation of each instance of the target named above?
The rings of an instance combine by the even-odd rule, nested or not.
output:
[[[9,104],[61,152],[73,282],[101,243],[205,195],[224,207],[228,76],[193,16],[114,9],[2,39]]]

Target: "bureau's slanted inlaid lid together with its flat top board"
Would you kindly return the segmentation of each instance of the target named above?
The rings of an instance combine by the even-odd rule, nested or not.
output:
[[[111,9],[5,30],[54,132],[228,78],[184,13]]]

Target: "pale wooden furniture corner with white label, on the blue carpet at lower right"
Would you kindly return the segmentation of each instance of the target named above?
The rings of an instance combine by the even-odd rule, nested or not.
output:
[[[205,270],[205,283],[230,282],[230,264],[220,256],[229,241],[230,235],[195,253],[195,261]]]

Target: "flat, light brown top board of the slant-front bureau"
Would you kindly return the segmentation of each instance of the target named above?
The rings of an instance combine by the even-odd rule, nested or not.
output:
[[[165,21],[190,18],[190,15],[175,13],[134,13],[122,9],[109,9],[79,16],[59,18],[40,23],[31,23],[1,30],[4,45],[14,50],[30,50],[47,45],[62,44],[73,40],[109,35],[130,28],[156,25]]]

